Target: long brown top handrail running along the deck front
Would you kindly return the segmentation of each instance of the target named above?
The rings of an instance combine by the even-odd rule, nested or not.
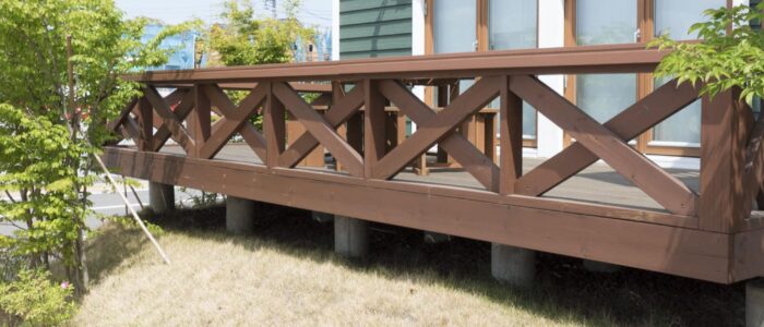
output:
[[[652,72],[668,51],[642,44],[497,50],[326,62],[259,64],[126,75],[143,83],[239,83],[258,80],[343,81],[360,78],[471,78],[506,74]]]

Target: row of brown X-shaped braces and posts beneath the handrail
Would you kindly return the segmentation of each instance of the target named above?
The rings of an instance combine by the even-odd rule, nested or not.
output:
[[[211,109],[222,117],[212,125],[208,137],[193,135],[183,126],[183,120],[193,111],[194,106],[201,105],[195,104],[200,96],[208,99]],[[144,97],[131,102],[110,128],[126,137],[138,140],[142,148],[150,150],[158,150],[167,140],[172,138],[187,154],[203,159],[215,157],[232,135],[239,133],[261,159],[267,158],[264,161],[270,167],[293,168],[321,144],[343,164],[350,175],[382,180],[393,178],[433,144],[438,144],[486,189],[493,192],[509,190],[501,193],[529,196],[545,194],[602,159],[669,211],[693,216],[697,210],[697,194],[628,142],[687,107],[697,96],[697,89],[692,85],[677,86],[676,82],[668,83],[600,124],[530,75],[479,78],[463,94],[455,96],[440,112],[421,101],[398,80],[358,83],[347,95],[335,99],[325,114],[317,112],[297,90],[283,82],[258,84],[238,106],[231,102],[220,87],[212,84],[196,85],[193,90],[178,89],[166,98],[162,98],[156,88],[148,86],[144,89]],[[518,110],[522,100],[527,101],[576,142],[524,175],[520,174],[518,165],[511,162],[518,157],[514,152],[518,152],[520,147],[503,148],[502,155],[509,159],[502,160],[502,166],[514,166],[508,168],[514,172],[502,172],[489,157],[456,132],[465,119],[497,97],[503,102],[512,102],[502,104],[502,110]],[[384,117],[380,116],[384,112],[385,99],[418,125],[417,132],[389,153],[384,150]],[[324,96],[322,101],[326,100],[327,97]],[[261,107],[265,112],[263,133],[249,121]],[[367,117],[363,156],[337,133],[337,128],[361,107],[366,108]],[[284,142],[285,110],[305,126],[305,133],[290,140],[288,148],[285,148]],[[511,111],[504,113],[510,114]],[[150,116],[152,124],[146,128],[143,121]],[[518,128],[516,120],[512,120],[514,129]],[[509,123],[502,119],[502,124]],[[157,132],[151,135],[150,128],[156,128]],[[512,134],[517,131],[511,130],[509,125],[502,126],[502,134],[508,133],[502,137],[517,138],[517,135]],[[764,123],[760,121],[751,133],[752,141],[748,149],[745,167],[750,178],[747,179],[747,190],[757,190],[763,184],[763,138]],[[508,143],[502,143],[506,147]],[[511,184],[509,187],[501,186],[508,183]]]

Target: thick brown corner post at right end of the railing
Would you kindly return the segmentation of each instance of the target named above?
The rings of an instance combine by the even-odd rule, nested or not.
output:
[[[739,90],[703,98],[701,128],[700,228],[733,232],[751,213],[744,194],[743,162],[750,119]],[[750,197],[750,198],[749,198]]]

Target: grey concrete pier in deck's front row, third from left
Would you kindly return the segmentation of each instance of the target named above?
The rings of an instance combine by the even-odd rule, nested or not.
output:
[[[334,252],[345,257],[365,257],[369,253],[367,222],[350,217],[334,216]]]

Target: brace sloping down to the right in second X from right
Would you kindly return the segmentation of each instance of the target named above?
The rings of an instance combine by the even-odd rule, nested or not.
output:
[[[420,129],[426,128],[428,122],[437,116],[442,114],[432,111],[430,107],[419,100],[416,95],[399,82],[390,80],[382,81],[380,82],[380,90],[387,99],[397,105],[401,111],[408,116],[411,121],[416,122]],[[402,144],[404,144],[404,142],[402,142]],[[475,147],[475,145],[470,144],[464,135],[455,133],[453,130],[446,131],[446,136],[440,141],[439,146],[449,152],[449,154],[487,190],[493,192],[499,191],[499,167],[493,164],[493,160]],[[427,148],[423,150],[427,150]],[[410,160],[411,159],[408,161]]]

